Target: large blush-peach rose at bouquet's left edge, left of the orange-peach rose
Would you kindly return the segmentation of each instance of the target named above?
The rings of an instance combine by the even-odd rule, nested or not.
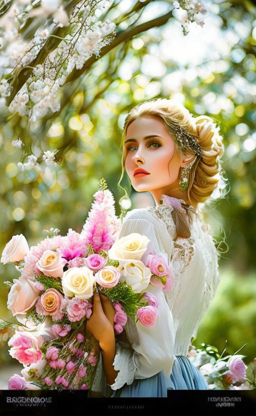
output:
[[[13,284],[8,293],[7,308],[13,316],[25,315],[36,302],[39,291],[35,288],[38,283],[30,277],[13,279]]]

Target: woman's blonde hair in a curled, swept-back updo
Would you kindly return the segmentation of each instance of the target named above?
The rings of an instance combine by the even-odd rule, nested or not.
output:
[[[127,127],[131,121],[142,116],[157,117],[163,121],[167,131],[175,141],[175,147],[179,151],[180,156],[186,155],[187,153],[194,153],[188,148],[181,150],[180,144],[175,137],[175,132],[171,128],[173,122],[179,124],[180,127],[183,127],[189,134],[196,138],[202,149],[202,156],[195,156],[196,160],[191,169],[189,169],[188,187],[185,192],[191,205],[205,202],[217,187],[221,173],[224,173],[220,160],[224,152],[224,146],[222,136],[219,134],[219,126],[207,115],[194,117],[183,105],[178,104],[172,99],[157,98],[144,101],[134,106],[124,120],[121,140],[121,177],[123,176],[127,156],[127,150],[124,146]],[[185,223],[184,216],[180,212],[180,210],[179,212],[176,210],[172,211],[173,220],[176,222],[177,234],[182,234],[180,236],[187,238],[190,236],[188,223]],[[190,215],[186,215],[185,217],[190,218]]]

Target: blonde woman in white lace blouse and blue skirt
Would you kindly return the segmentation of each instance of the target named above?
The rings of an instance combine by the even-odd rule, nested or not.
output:
[[[198,203],[219,181],[222,137],[210,117],[193,117],[182,105],[157,99],[128,113],[122,147],[133,188],[149,191],[155,206],[129,211],[118,238],[146,235],[156,253],[168,253],[174,278],[168,290],[151,284],[145,290],[158,301],[154,325],[128,319],[118,336],[111,303],[94,295],[87,328],[101,347],[106,395],[166,397],[168,388],[207,389],[186,354],[219,281],[219,253]]]

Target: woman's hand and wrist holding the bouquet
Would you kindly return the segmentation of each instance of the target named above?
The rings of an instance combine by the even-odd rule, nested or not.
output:
[[[107,349],[107,345],[114,341],[114,307],[106,296],[98,292],[94,292],[92,305],[93,312],[86,321],[86,328],[99,341],[100,348]]]

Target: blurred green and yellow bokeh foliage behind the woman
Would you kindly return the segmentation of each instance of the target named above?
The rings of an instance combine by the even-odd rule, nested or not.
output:
[[[118,32],[164,15],[171,2],[115,3],[107,17],[116,22]],[[24,234],[31,246],[50,227],[61,234],[69,227],[80,231],[102,176],[119,214],[125,115],[143,100],[175,98],[195,115],[210,115],[220,125],[222,166],[230,188],[205,214],[222,250],[221,281],[193,344],[209,343],[219,352],[226,347],[230,354],[246,344],[239,353],[248,363],[256,351],[256,11],[250,1],[203,4],[208,12],[203,27],[190,23],[184,35],[180,21],[170,17],[109,48],[86,72],[77,74],[63,88],[59,111],[29,127],[26,116],[17,113],[2,122],[0,250],[14,234]],[[59,149],[59,165],[20,171],[22,151],[11,144],[18,136],[35,155]],[[134,192],[126,176],[121,183],[130,192],[131,209],[154,204],[147,192]],[[7,320],[12,316],[3,281],[18,275],[13,264],[0,263],[0,317]],[[5,345],[0,363],[7,360],[12,358]]]

